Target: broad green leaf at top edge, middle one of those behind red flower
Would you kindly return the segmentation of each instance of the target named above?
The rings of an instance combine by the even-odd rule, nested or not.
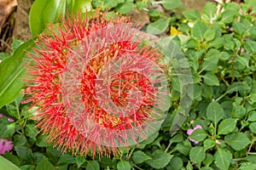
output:
[[[65,10],[66,1],[50,0],[45,6],[44,13],[42,14],[44,26],[49,23],[55,23],[55,20],[60,16],[60,14],[65,14]]]

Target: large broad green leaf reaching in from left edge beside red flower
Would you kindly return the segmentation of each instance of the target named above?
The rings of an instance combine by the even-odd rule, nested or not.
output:
[[[24,81],[21,76],[25,69],[22,59],[26,57],[26,51],[34,45],[29,40],[15,50],[15,54],[0,63],[0,109],[3,105],[13,102],[23,88]]]

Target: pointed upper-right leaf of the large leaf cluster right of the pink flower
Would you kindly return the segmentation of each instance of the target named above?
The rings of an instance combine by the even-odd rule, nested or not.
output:
[[[224,119],[218,125],[218,134],[231,133],[236,128],[237,119]]]

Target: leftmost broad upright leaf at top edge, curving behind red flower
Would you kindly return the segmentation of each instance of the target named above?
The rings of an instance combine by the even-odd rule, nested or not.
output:
[[[38,0],[32,4],[32,7],[29,13],[29,27],[33,37],[40,34],[45,28],[44,21],[43,21],[43,14],[44,14],[44,8],[47,6],[49,1],[50,0],[44,0],[44,1]]]

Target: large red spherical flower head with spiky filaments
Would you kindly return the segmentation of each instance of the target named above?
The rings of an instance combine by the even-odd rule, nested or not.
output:
[[[96,12],[49,26],[30,54],[28,101],[63,152],[117,154],[157,131],[168,109],[160,51],[130,19]]]

